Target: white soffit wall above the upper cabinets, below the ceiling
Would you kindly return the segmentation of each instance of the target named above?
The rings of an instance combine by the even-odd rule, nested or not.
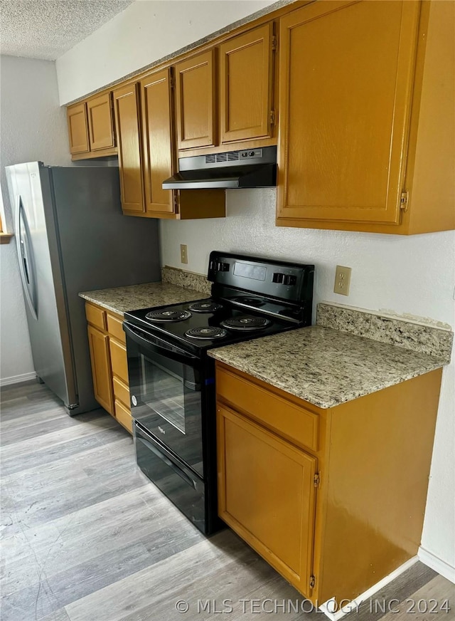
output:
[[[119,80],[273,3],[137,0],[57,59],[60,103]]]

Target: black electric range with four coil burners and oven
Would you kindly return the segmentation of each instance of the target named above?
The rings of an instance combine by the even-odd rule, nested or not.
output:
[[[311,324],[314,266],[213,251],[210,298],[124,315],[137,462],[204,533],[219,528],[210,348]]]

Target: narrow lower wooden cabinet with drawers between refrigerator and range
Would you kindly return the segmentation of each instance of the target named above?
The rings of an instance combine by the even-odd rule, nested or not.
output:
[[[132,433],[128,362],[122,317],[85,304],[95,399]]]

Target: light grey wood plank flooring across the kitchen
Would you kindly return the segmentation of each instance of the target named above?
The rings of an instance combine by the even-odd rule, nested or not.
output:
[[[44,385],[6,387],[1,445],[1,621],[326,618],[232,531],[201,535],[103,410],[71,418]],[[374,600],[392,598],[400,612],[375,612]],[[407,600],[430,598],[451,610],[406,612]],[[351,617],[454,621],[454,585],[417,563]]]

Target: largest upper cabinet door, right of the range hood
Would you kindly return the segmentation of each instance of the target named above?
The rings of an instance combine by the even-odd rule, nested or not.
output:
[[[418,18],[327,0],[281,19],[279,219],[400,221]]]

